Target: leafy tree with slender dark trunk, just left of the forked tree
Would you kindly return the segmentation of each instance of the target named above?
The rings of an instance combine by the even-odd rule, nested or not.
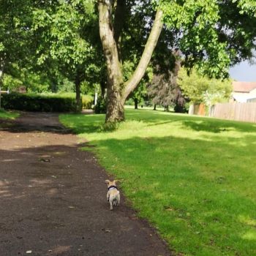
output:
[[[61,74],[75,84],[80,110],[81,84],[104,80],[94,1],[45,1],[36,4],[33,14],[39,64],[45,67],[54,61]]]

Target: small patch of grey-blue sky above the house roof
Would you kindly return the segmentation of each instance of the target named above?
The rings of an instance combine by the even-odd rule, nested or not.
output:
[[[250,65],[248,61],[243,61],[230,68],[230,77],[243,82],[256,82],[256,64]]]

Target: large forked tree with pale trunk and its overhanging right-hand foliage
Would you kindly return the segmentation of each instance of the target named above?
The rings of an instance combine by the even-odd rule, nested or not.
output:
[[[124,120],[124,102],[143,78],[157,45],[163,22],[173,31],[175,41],[185,56],[187,67],[197,66],[210,76],[226,77],[230,64],[252,56],[255,49],[255,3],[241,1],[146,1],[156,8],[154,25],[138,66],[128,80],[122,70],[122,34],[141,1],[98,0],[99,31],[108,69],[106,122]],[[132,9],[129,9],[131,8]],[[146,8],[148,10],[148,8]],[[145,14],[144,17],[146,17]],[[148,16],[147,16],[148,17]],[[237,23],[238,20],[238,23]],[[148,26],[143,27],[147,31]],[[141,39],[145,38],[145,33]]]

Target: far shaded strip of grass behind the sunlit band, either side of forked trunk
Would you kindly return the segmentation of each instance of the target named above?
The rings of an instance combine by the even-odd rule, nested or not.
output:
[[[156,127],[180,122],[185,129],[197,132],[203,131],[214,134],[230,131],[256,132],[256,124],[238,121],[202,118],[188,116],[186,114],[156,113],[152,110],[127,110],[126,112],[126,121],[140,121],[146,124],[147,127]],[[78,134],[104,132],[102,127],[104,125],[105,115],[61,115],[61,120],[64,124],[65,119],[67,119],[68,126]]]

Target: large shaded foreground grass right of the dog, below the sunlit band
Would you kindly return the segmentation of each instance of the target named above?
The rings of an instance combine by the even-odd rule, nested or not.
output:
[[[178,252],[255,255],[255,136],[243,140],[244,146],[171,136],[91,143],[140,216]]]

